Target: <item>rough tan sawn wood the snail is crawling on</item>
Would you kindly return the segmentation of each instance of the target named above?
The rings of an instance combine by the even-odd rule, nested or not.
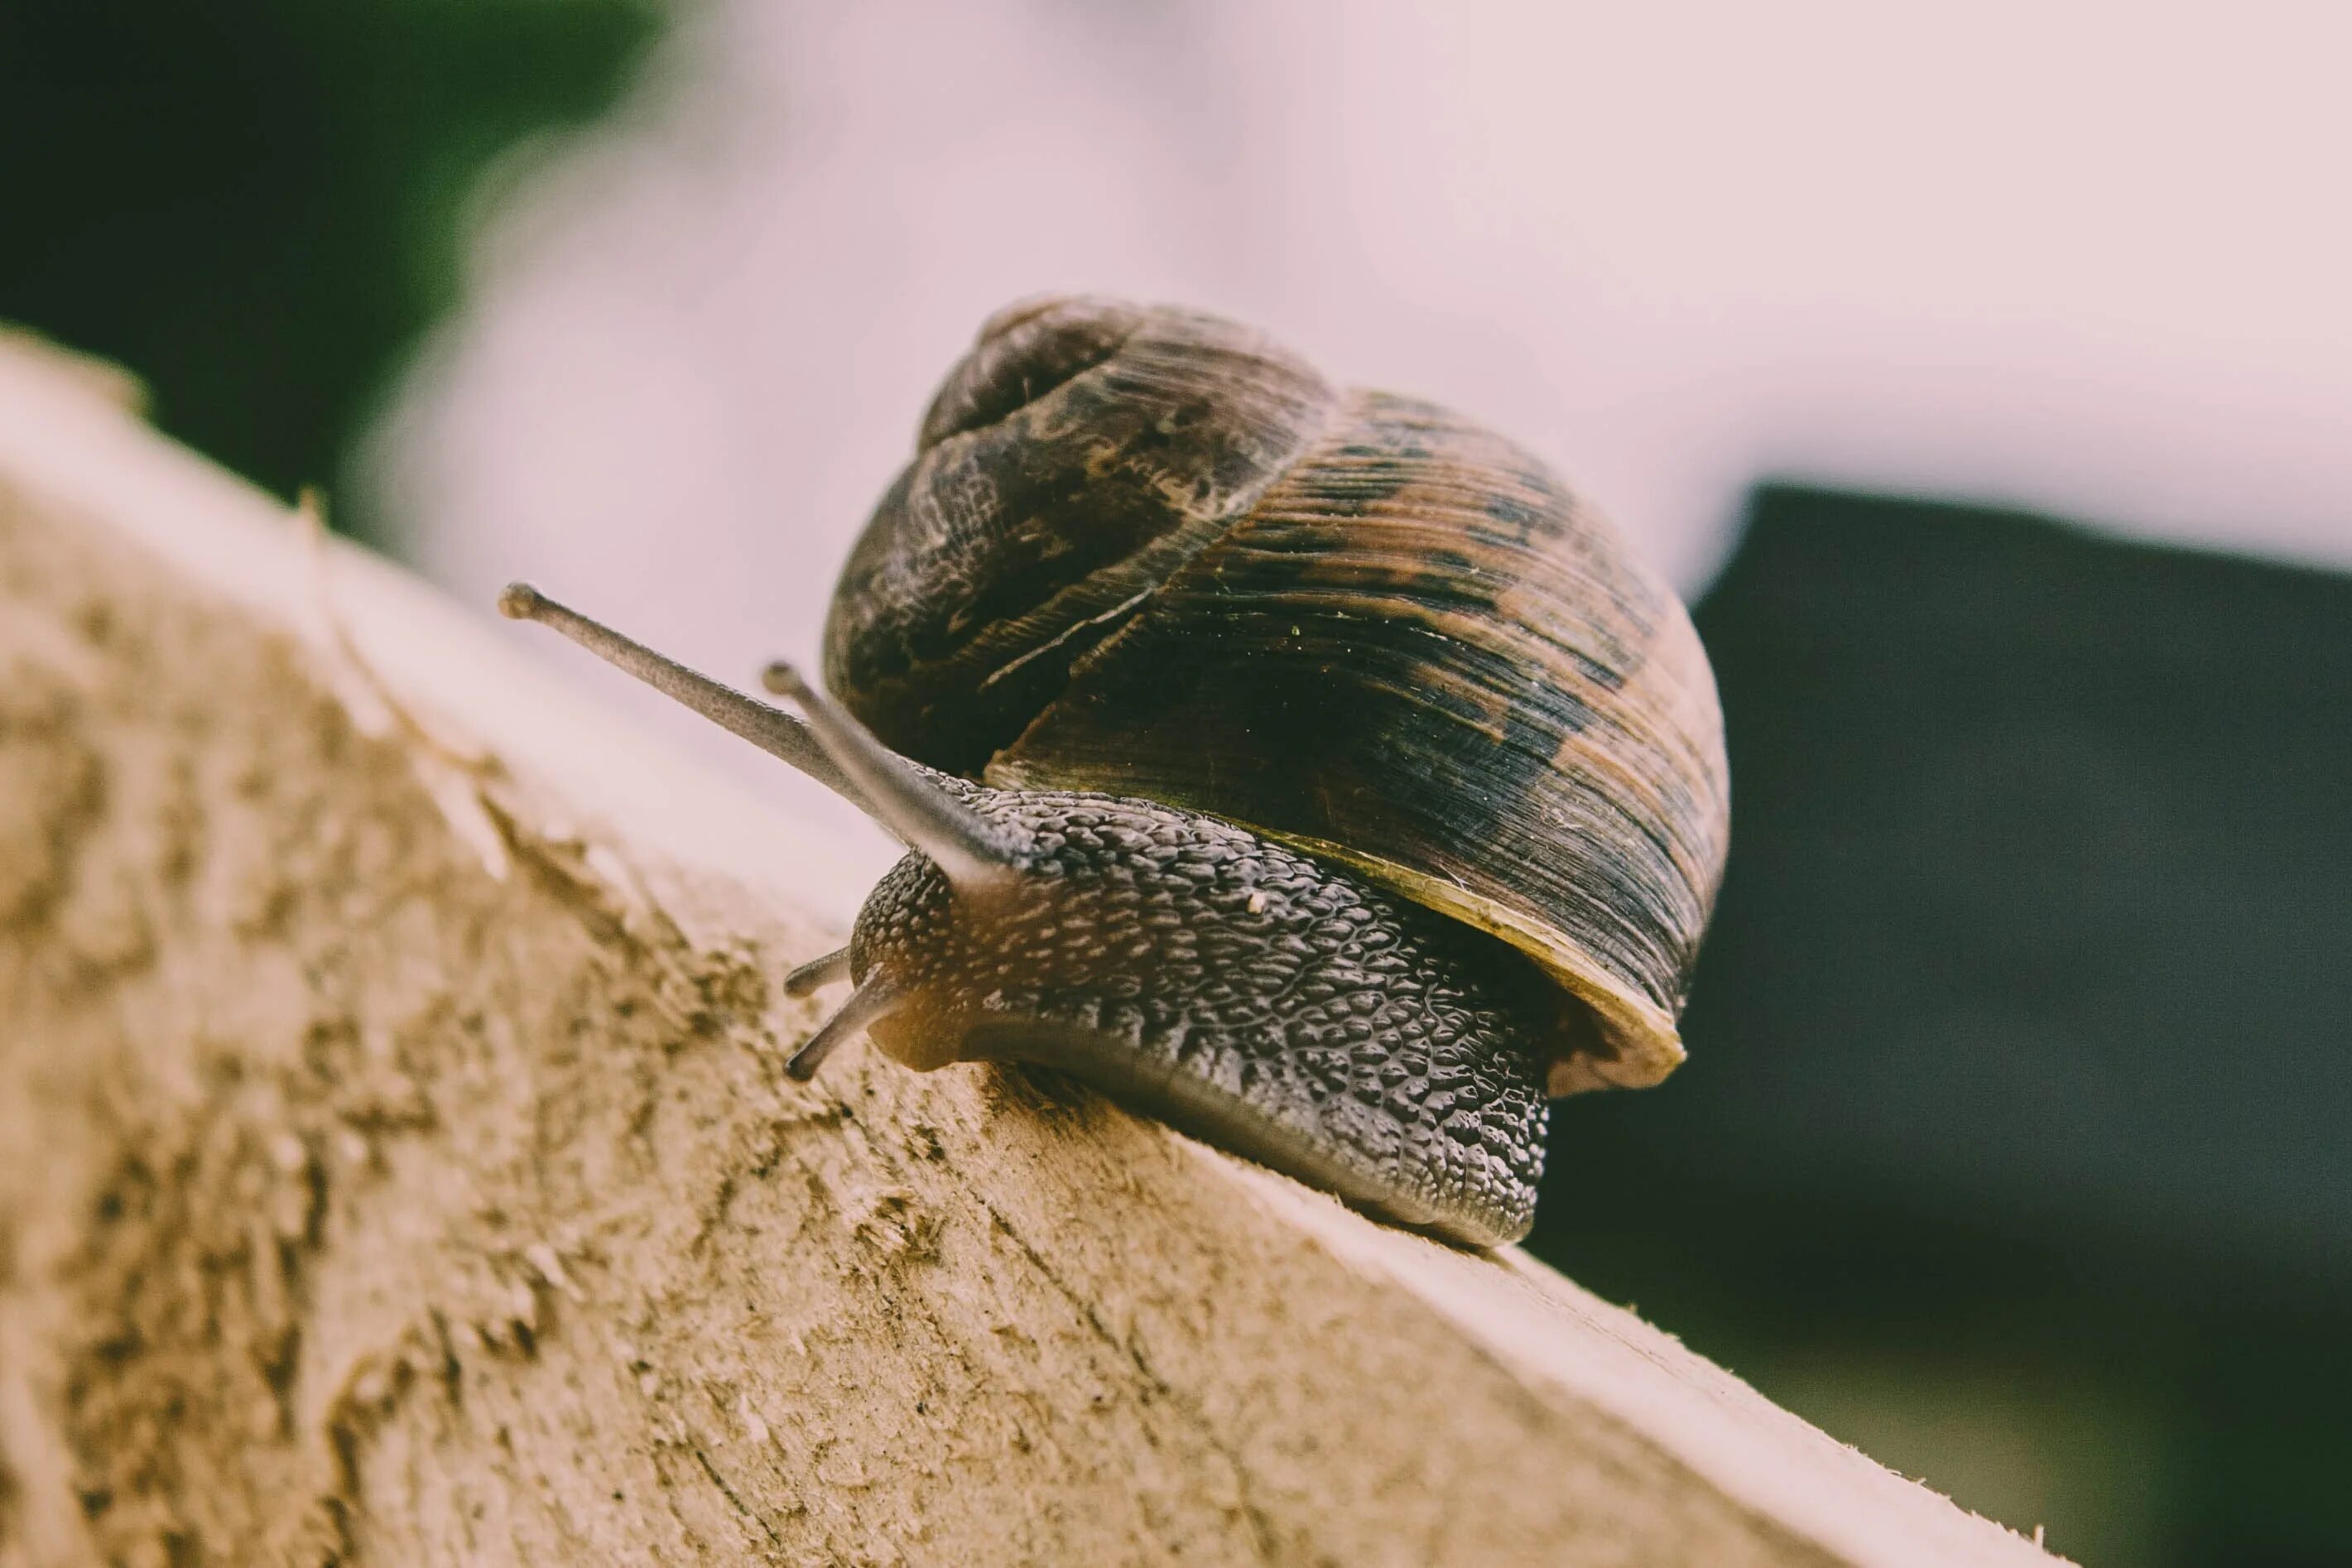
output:
[[[816,835],[332,548],[358,665],[103,386],[0,346],[0,1563],[2049,1561],[1524,1255],[790,1084]]]

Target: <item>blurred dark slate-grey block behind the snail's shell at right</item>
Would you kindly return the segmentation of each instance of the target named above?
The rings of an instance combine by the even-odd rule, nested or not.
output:
[[[1780,489],[1698,621],[1740,816],[1693,1114],[2352,1272],[2352,581]]]

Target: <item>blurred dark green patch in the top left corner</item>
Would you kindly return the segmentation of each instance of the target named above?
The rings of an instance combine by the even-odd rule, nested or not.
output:
[[[273,489],[332,482],[456,296],[461,207],[597,113],[635,0],[0,5],[0,320],[136,367],[158,423]]]

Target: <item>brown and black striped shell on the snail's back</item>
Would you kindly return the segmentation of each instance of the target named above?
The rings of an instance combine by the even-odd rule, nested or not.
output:
[[[1656,1084],[1729,839],[1675,592],[1524,449],[1174,308],[993,317],[826,623],[882,741],[1218,816],[1531,954],[1550,1093]]]

